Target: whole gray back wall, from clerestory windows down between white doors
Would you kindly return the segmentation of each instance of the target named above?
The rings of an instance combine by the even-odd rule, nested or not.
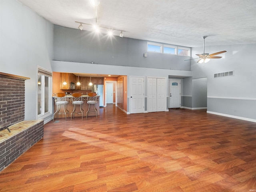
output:
[[[144,76],[145,107],[147,97],[146,77],[166,78],[166,98],[168,98],[169,76],[192,76],[189,57],[148,52],[147,41],[66,28],[54,25],[54,72],[87,74],[113,74],[127,76],[127,103],[130,111],[129,76]],[[94,62],[94,64],[92,64]],[[168,99],[166,99],[168,100]],[[146,110],[146,108],[144,108]],[[168,103],[166,102],[166,110]]]

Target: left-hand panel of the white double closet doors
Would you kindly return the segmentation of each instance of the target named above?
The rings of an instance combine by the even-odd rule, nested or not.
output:
[[[156,106],[156,78],[148,78],[148,112],[156,112]]]

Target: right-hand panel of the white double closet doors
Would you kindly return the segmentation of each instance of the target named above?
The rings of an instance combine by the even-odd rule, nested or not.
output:
[[[157,78],[157,111],[165,111],[166,96],[165,96],[165,79]]]

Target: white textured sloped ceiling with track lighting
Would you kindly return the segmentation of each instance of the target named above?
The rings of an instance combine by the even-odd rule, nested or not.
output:
[[[89,0],[18,0],[53,24],[93,24]],[[124,37],[188,47],[256,43],[255,0],[100,0],[98,24]],[[84,25],[83,30],[92,30]],[[119,35],[116,32],[115,35]]]

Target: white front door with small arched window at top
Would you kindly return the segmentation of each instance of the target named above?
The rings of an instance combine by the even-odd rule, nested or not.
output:
[[[180,80],[169,80],[169,108],[179,108],[180,97]]]

